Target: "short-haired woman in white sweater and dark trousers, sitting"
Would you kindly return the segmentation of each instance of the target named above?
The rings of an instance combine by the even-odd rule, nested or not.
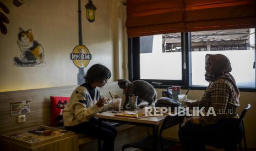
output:
[[[97,87],[102,88],[110,77],[111,72],[107,67],[101,64],[91,66],[84,77],[85,83],[73,91],[62,112],[67,130],[101,138],[104,141],[102,150],[114,150],[117,136],[116,128],[105,122],[102,122],[99,131],[98,119],[94,117],[104,108],[105,103],[105,98]]]

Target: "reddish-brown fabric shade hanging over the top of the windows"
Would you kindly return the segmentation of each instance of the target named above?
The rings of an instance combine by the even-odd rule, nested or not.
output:
[[[255,0],[127,0],[128,37],[255,25]]]

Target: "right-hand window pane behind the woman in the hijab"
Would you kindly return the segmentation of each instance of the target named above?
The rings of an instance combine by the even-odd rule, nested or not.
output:
[[[209,84],[204,80],[205,70],[202,62],[205,62],[205,54],[224,54],[231,62],[231,74],[236,79],[237,85],[239,87],[255,88],[255,68],[253,66],[255,47],[238,47],[238,45],[244,45],[245,43],[255,46],[254,28],[191,32],[191,37],[192,47],[193,45],[198,46],[200,43],[207,43],[209,47],[215,45],[214,48],[221,45],[217,50],[211,47],[210,51],[191,52],[192,86],[206,86]],[[200,37],[201,40],[199,39]],[[198,40],[193,41],[193,39]],[[225,50],[223,49],[224,47]]]

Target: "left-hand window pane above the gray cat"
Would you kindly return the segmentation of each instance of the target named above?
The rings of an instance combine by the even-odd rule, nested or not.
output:
[[[137,40],[139,47],[135,47],[139,48],[139,65],[135,65],[138,72],[134,77],[151,84],[184,84],[181,33],[143,36]]]

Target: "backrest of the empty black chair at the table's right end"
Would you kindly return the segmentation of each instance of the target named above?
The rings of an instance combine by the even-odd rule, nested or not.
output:
[[[162,137],[162,131],[164,131],[165,129],[168,129],[175,125],[181,126],[181,124],[183,123],[183,119],[186,115],[185,113],[181,112],[181,113],[175,113],[172,115],[167,115],[167,117],[165,118],[164,122],[162,123],[161,129],[160,129],[160,133],[159,133],[160,138]]]

